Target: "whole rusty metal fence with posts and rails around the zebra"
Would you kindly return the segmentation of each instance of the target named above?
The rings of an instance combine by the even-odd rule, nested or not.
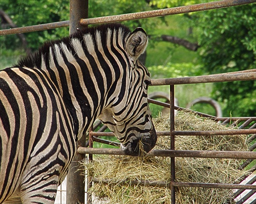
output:
[[[123,15],[115,15],[115,16],[105,16],[98,18],[89,18],[88,19],[88,0],[80,1],[80,0],[70,0],[70,20],[61,21],[61,22],[53,22],[50,24],[44,25],[35,25],[28,26],[23,28],[14,28],[7,30],[0,30],[0,35],[8,35],[15,33],[24,33],[24,32],[32,32],[39,30],[47,30],[59,27],[70,27],[70,33],[76,31],[77,28],[84,28],[84,26],[90,24],[102,24],[107,22],[117,22],[124,20],[134,20],[140,18],[149,18],[149,17],[157,17],[157,16],[165,16],[165,15],[174,15],[188,12],[196,12],[196,11],[205,11],[210,9],[219,9],[230,6],[238,6],[244,4],[255,3],[256,0],[228,0],[228,1],[216,1],[210,3],[189,5],[183,7],[169,8],[169,9],[159,9],[153,11],[145,11],[138,13],[130,13]],[[174,105],[175,102],[175,85],[180,84],[193,84],[193,83],[209,83],[209,82],[224,82],[224,81],[239,81],[239,80],[255,80],[256,79],[256,70],[248,70],[234,73],[225,73],[218,75],[208,75],[208,76],[198,76],[198,77],[183,77],[183,78],[169,78],[169,79],[153,79],[152,85],[169,85],[170,90],[170,103],[166,104],[163,102],[158,102],[152,99],[148,99],[148,102],[155,103],[158,105],[162,105],[164,107],[170,108],[170,130],[168,132],[158,132],[158,135],[169,135],[171,139],[170,150],[152,150],[148,155],[150,156],[168,156],[170,157],[170,173],[171,180],[169,182],[162,182],[162,185],[168,185],[171,189],[172,197],[171,203],[175,204],[175,193],[177,187],[202,187],[202,188],[228,188],[228,189],[240,189],[238,190],[234,196],[238,196],[245,189],[249,189],[249,193],[246,194],[245,197],[241,198],[237,203],[243,203],[247,197],[255,194],[256,186],[252,185],[256,176],[254,176],[247,184],[202,184],[202,183],[183,183],[176,182],[175,180],[175,158],[176,157],[204,157],[204,158],[237,158],[244,159],[246,162],[241,166],[241,168],[245,168],[249,163],[256,159],[256,152],[253,151],[256,145],[250,147],[250,151],[248,152],[226,152],[226,151],[184,151],[184,150],[175,150],[175,136],[176,135],[221,135],[221,134],[251,134],[249,141],[253,141],[256,139],[256,117],[244,117],[244,118],[218,118],[209,116],[202,113],[197,113],[201,116],[211,118],[216,121],[220,121],[222,124],[230,123],[231,125],[238,126],[239,129],[236,130],[218,130],[218,131],[175,131],[174,122],[175,122],[175,109],[183,109],[181,107],[177,107]],[[190,111],[185,109],[186,111]],[[241,124],[242,123],[242,124]],[[239,125],[240,124],[240,125]],[[98,126],[99,124],[96,124]],[[95,128],[95,127],[94,127]],[[71,164],[70,172],[67,176],[67,203],[76,203],[77,200],[84,200],[84,177],[80,175],[80,172],[77,171],[77,167],[79,166],[79,161],[84,157],[84,154],[88,154],[88,158],[90,161],[93,160],[93,154],[118,154],[121,155],[123,152],[120,149],[104,149],[104,148],[93,148],[93,141],[101,142],[106,144],[113,144],[111,141],[105,141],[100,139],[101,136],[113,136],[112,132],[102,132],[104,127],[102,127],[98,132],[94,132],[94,128],[92,127],[89,131],[89,141],[86,141],[86,137],[83,137],[78,142],[77,154]],[[118,145],[115,144],[114,145]],[[254,172],[256,166],[253,166],[250,172]],[[244,179],[244,178],[243,178]],[[88,185],[87,189],[91,187],[93,182],[98,182],[97,178],[93,178],[92,175],[88,176]],[[106,181],[107,182],[107,181]],[[141,181],[142,184],[147,184],[148,181]],[[151,181],[148,185],[154,185],[159,182]],[[62,191],[62,190],[61,190]],[[92,203],[92,196],[90,194],[87,195],[86,202]],[[251,203],[255,203],[253,200]]]

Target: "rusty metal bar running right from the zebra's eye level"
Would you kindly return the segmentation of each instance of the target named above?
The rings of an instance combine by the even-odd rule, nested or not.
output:
[[[179,78],[166,78],[166,79],[152,79],[153,86],[171,85],[171,84],[194,84],[194,83],[212,83],[224,81],[246,81],[256,80],[256,72],[238,73],[238,74],[216,74],[204,75],[197,77],[179,77]]]

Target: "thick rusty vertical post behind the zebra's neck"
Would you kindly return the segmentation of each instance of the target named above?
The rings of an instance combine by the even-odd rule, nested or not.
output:
[[[70,0],[70,34],[76,32],[77,28],[85,28],[79,24],[81,18],[88,18],[89,0]],[[85,146],[86,136],[77,142],[76,146]],[[78,171],[79,161],[84,155],[76,153],[71,162],[69,173],[67,176],[67,203],[76,204],[78,200],[84,203],[84,176]]]

